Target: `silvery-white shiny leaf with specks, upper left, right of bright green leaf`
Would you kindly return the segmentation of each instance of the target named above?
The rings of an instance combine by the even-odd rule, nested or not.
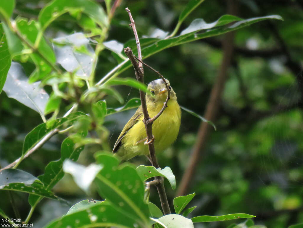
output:
[[[53,39],[57,62],[68,72],[88,78],[95,68],[95,51],[82,32]],[[77,48],[84,48],[83,52]]]

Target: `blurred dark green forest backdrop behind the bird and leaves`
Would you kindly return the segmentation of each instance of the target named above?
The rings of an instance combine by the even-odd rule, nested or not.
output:
[[[13,17],[37,18],[47,2],[17,0]],[[97,2],[105,5],[103,1]],[[156,28],[172,31],[187,2],[122,1],[107,40],[125,43],[133,38],[126,7],[131,9],[139,37],[142,37]],[[278,14],[284,21],[262,21],[235,32],[231,65],[226,69],[227,80],[217,104],[218,114],[214,121],[217,131],[208,128],[206,143],[186,193],[196,193],[189,204],[198,206],[192,216],[248,213],[257,216],[255,224],[284,228],[303,222],[303,4],[283,0],[237,0],[234,4],[238,17]],[[195,18],[203,18],[209,23],[226,13],[225,1],[206,0],[185,19],[180,31]],[[46,35],[53,38],[75,31],[81,31],[80,27],[65,14],[52,23]],[[221,65],[224,38],[206,38],[169,48],[145,62],[169,79],[180,105],[203,115]],[[96,81],[116,64],[111,52],[103,51],[98,60]],[[35,68],[30,63],[23,67],[27,72]],[[134,77],[134,71],[128,69],[119,77]],[[157,78],[155,73],[145,69],[146,83]],[[126,86],[117,89],[125,100],[138,97],[136,89]],[[108,97],[107,106],[121,105]],[[0,95],[0,107],[0,163],[5,167],[19,157],[25,135],[42,121],[38,113],[9,99],[4,92]],[[134,112],[113,114],[107,119],[105,126],[111,147]],[[198,118],[182,112],[175,144],[157,155],[161,167],[171,167],[177,188],[197,140],[199,124]],[[62,139],[60,135],[53,137],[19,168],[34,176],[42,174],[48,162],[60,157]],[[96,145],[86,146],[79,163],[94,162],[93,154],[98,149]],[[145,157],[136,157],[131,162],[148,165]],[[168,182],[165,184],[171,202],[176,191],[171,190]],[[54,191],[71,204],[88,198],[70,175],[65,175]],[[24,219],[30,209],[27,194],[12,192],[10,195],[0,191],[2,209],[14,217],[10,201],[13,199]],[[92,190],[89,197],[98,199],[98,194]],[[160,206],[155,189],[151,190],[151,201]],[[69,207],[49,199],[42,200],[32,217],[34,227],[61,216]],[[230,223],[200,223],[195,227],[227,227]]]

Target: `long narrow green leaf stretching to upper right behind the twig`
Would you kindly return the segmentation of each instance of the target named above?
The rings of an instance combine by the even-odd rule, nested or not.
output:
[[[155,53],[158,53],[159,51],[162,51],[166,48],[171,48],[171,47],[174,47],[174,46],[177,46],[177,45],[181,45],[181,44],[184,44],[184,43],[188,43],[188,42],[192,42],[192,41],[195,41],[195,40],[203,39],[203,38],[206,38],[206,37],[221,35],[221,34],[229,32],[229,31],[244,28],[244,27],[252,25],[256,22],[267,20],[267,19],[281,20],[282,18],[278,15],[270,15],[270,16],[259,17],[259,18],[250,18],[250,19],[247,19],[247,20],[238,21],[234,25],[231,25],[231,26],[226,27],[226,28],[225,27],[211,28],[211,29],[208,29],[207,31],[205,31],[204,33],[201,33],[201,34],[191,34],[191,33],[189,33],[189,34],[173,37],[173,38],[170,38],[170,39],[159,40],[159,41],[156,41],[155,43],[153,43],[153,44],[151,44],[151,45],[149,45],[145,48],[142,48],[142,59],[148,58],[149,56],[154,55]],[[137,54],[135,49],[133,49],[133,52],[134,52],[135,55]],[[120,67],[120,69],[116,72],[115,75],[118,75],[118,74],[122,73],[123,71],[125,71],[126,69],[128,69],[131,66],[132,66],[132,64],[131,64],[130,61],[125,62]]]

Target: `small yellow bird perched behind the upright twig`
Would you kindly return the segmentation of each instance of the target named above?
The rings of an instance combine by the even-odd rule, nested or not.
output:
[[[176,93],[170,87],[169,81],[165,80],[171,89],[170,100],[164,112],[152,124],[156,153],[164,151],[176,140],[181,122],[181,109],[177,102]],[[162,79],[151,81],[147,88],[151,92],[151,94],[146,94],[147,110],[149,116],[154,117],[163,107],[168,91]],[[123,127],[113,149],[113,153],[121,157],[122,160],[129,160],[136,155],[149,154],[148,145],[144,144],[147,137],[143,118],[140,106]]]

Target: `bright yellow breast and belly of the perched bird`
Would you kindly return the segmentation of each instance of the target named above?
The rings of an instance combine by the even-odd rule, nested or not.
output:
[[[148,114],[154,117],[163,107],[160,102],[157,106],[147,106]],[[148,155],[148,145],[145,145],[146,131],[143,117],[135,124],[122,139],[122,147],[118,151],[119,157],[129,160],[136,155]],[[152,124],[152,133],[155,137],[156,153],[163,152],[176,140],[181,122],[181,109],[176,100],[168,101],[168,107]]]

